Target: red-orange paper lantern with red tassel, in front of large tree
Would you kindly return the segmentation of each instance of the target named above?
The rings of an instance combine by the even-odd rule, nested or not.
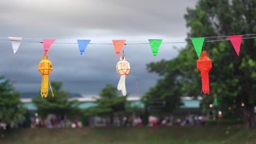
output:
[[[201,71],[202,92],[210,94],[209,71],[212,69],[212,60],[207,56],[206,51],[201,52],[200,58],[196,61],[197,69]]]

